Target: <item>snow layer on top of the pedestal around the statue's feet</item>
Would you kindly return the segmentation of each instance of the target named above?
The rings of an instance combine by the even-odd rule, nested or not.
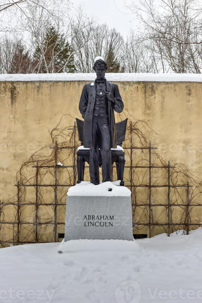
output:
[[[124,186],[120,185],[120,180],[116,182],[104,182],[99,185],[94,185],[87,181],[81,181],[81,183],[76,184],[69,188],[68,196],[123,196],[130,197],[131,191]],[[108,189],[112,188],[112,191]]]

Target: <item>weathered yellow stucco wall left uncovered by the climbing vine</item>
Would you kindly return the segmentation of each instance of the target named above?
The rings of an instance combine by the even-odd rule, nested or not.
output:
[[[5,203],[16,194],[14,182],[20,166],[41,147],[51,144],[48,131],[57,126],[61,116],[69,114],[63,119],[64,127],[73,125],[75,117],[81,118],[78,102],[82,87],[87,82],[0,82],[0,199],[2,202]],[[153,146],[158,147],[158,152],[165,162],[170,160],[171,164],[186,165],[200,180],[202,83],[127,81],[116,83],[124,101],[124,114],[133,121],[137,119],[148,123],[145,136]],[[116,121],[118,121],[117,115]],[[138,146],[139,141],[135,142],[135,140],[136,138],[134,144]],[[157,200],[158,197],[162,197],[161,194],[157,195]],[[12,220],[13,211],[12,206],[7,207],[4,220]],[[157,216],[158,212],[159,210],[156,210]],[[43,214],[45,213],[44,209]],[[194,215],[197,222],[201,220],[201,213],[197,212],[197,215]],[[61,220],[64,220],[64,216]],[[64,226],[59,226],[58,231],[64,232]],[[156,228],[154,234],[163,231],[162,228]],[[8,235],[6,229],[2,228],[1,233],[3,233],[1,238],[4,240],[12,237]],[[148,229],[144,228],[141,233],[148,233]],[[49,240],[52,241],[52,238]]]

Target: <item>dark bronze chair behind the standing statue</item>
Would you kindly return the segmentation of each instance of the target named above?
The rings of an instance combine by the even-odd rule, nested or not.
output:
[[[117,138],[117,145],[122,146],[122,142],[125,141],[125,133],[126,133],[126,125],[128,119],[124,121],[116,123],[116,138]],[[77,129],[78,129],[78,139],[81,142],[81,146],[83,145],[83,126],[84,122],[78,118],[76,118],[77,122]],[[119,149],[112,149],[112,164],[116,163],[116,171],[118,180],[120,180],[120,185],[124,186],[124,166],[125,166],[125,154],[122,150]],[[80,183],[83,181],[84,177],[84,169],[85,169],[85,162],[89,164],[89,149],[79,149],[77,152],[77,173],[78,173],[78,181]],[[99,151],[99,167],[102,166],[102,156],[101,152]]]

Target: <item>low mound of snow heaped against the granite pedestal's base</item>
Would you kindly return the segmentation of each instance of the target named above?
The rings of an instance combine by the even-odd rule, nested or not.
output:
[[[58,251],[62,253],[76,253],[76,252],[100,252],[100,251],[139,251],[141,246],[137,241],[127,240],[70,240],[62,241],[58,246]]]

